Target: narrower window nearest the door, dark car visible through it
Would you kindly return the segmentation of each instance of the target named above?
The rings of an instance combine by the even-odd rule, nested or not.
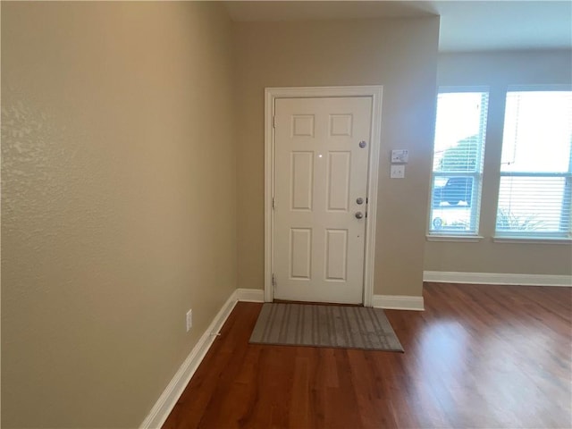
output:
[[[430,235],[476,235],[481,205],[488,92],[437,97]]]

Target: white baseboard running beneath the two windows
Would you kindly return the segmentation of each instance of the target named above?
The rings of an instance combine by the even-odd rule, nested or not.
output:
[[[423,281],[520,286],[572,286],[571,275],[551,274],[456,273],[446,271],[424,271]]]

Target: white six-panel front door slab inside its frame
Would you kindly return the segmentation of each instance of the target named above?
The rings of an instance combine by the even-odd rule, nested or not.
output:
[[[274,109],[273,297],[362,303],[372,97]]]

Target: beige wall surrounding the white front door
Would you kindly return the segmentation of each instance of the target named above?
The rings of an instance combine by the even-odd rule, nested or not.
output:
[[[383,85],[375,294],[421,295],[439,19],[235,23],[239,286],[264,288],[265,87]],[[409,149],[390,180],[392,148]]]

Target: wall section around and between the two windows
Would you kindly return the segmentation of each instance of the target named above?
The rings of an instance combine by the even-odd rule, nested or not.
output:
[[[480,229],[484,240],[478,243],[426,242],[425,270],[560,275],[572,273],[572,246],[569,244],[514,244],[492,241],[500,180],[506,88],[513,84],[569,85],[571,80],[570,51],[439,56],[439,85],[490,87]]]

